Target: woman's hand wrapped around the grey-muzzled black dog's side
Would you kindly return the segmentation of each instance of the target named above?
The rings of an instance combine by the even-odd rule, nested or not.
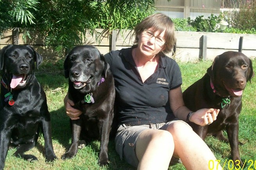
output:
[[[80,115],[82,114],[81,110],[75,109],[72,106],[75,105],[75,103],[68,98],[68,94],[64,98],[64,105],[66,109],[66,114],[70,119],[77,120],[79,119]]]

